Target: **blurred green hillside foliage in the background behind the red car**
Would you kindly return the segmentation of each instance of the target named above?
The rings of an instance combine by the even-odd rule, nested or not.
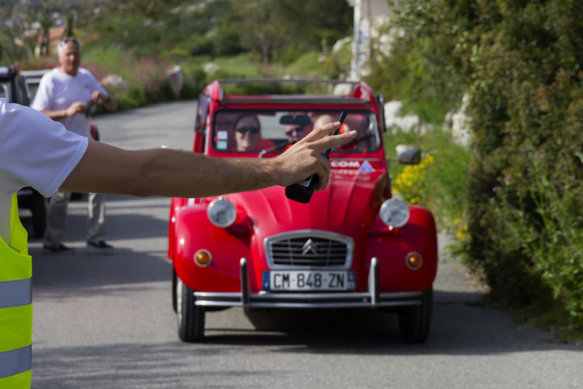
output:
[[[6,60],[20,69],[54,67],[45,32],[62,23],[65,36],[83,43],[83,67],[98,79],[116,74],[129,83],[110,91],[120,109],[195,98],[215,78],[326,77],[346,74],[350,65],[349,45],[341,54],[332,45],[352,35],[352,8],[335,0],[1,3]],[[175,65],[184,73],[178,96],[168,75]]]

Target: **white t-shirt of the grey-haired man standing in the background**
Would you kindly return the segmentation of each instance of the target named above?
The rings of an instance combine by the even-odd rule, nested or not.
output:
[[[58,68],[45,73],[38,84],[31,107],[37,111],[58,111],[68,108],[72,103],[88,103],[94,90],[109,96],[99,81],[87,69],[79,68],[75,76],[61,72]],[[57,120],[66,129],[89,138],[91,131],[89,119],[85,114],[76,114]]]

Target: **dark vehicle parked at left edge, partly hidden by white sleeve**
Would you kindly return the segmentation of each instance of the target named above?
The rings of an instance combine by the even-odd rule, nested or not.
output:
[[[0,66],[0,97],[10,103],[30,105],[26,78],[12,65]],[[47,200],[43,195],[31,187],[22,188],[18,191],[18,206],[30,209],[34,236],[43,236],[47,220]]]

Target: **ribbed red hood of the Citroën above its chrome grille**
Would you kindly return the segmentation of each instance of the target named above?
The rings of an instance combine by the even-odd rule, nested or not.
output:
[[[289,230],[317,229],[351,234],[371,225],[387,188],[384,170],[332,170],[325,190],[314,192],[308,204],[292,201],[285,188],[241,192],[226,196],[240,215],[248,216],[255,234],[269,236]]]

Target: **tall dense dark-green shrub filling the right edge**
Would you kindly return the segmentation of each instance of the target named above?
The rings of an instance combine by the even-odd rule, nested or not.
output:
[[[482,34],[469,107],[468,254],[503,302],[533,306],[552,290],[580,325],[583,20],[575,3],[504,2],[503,21]]]

